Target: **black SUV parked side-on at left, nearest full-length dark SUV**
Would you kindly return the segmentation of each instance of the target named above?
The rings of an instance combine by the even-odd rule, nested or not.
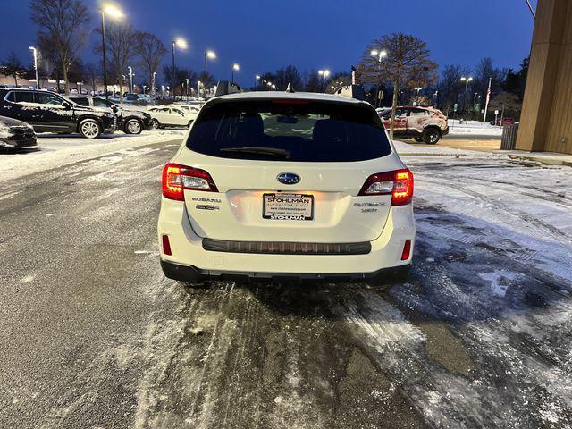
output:
[[[115,115],[77,105],[53,92],[0,89],[0,115],[29,123],[36,132],[79,132],[87,139],[115,130]]]

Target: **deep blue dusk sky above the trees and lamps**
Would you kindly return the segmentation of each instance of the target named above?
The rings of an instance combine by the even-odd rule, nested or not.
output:
[[[433,60],[474,66],[490,56],[497,66],[517,68],[529,54],[534,21],[524,0],[291,0],[203,1],[117,0],[136,29],[150,31],[170,45],[181,36],[189,49],[177,64],[202,70],[203,53],[217,79],[230,79],[231,63],[240,63],[236,80],[250,86],[256,73],[296,65],[300,71],[329,68],[348,71],[366,45],[383,34],[401,31],[425,40]],[[0,0],[4,14],[0,58],[13,49],[29,63],[28,46],[36,27],[29,2]],[[100,25],[99,0],[86,0],[91,28]],[[535,4],[535,2],[534,2]],[[82,57],[93,61],[92,35]],[[165,55],[164,63],[171,61]]]

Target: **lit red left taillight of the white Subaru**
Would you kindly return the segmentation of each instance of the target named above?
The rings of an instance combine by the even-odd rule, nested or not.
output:
[[[205,170],[180,164],[166,164],[163,169],[164,198],[184,201],[184,189],[218,192],[213,178]]]

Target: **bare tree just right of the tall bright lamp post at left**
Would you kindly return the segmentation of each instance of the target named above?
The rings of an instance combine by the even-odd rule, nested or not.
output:
[[[101,34],[101,29],[96,29],[96,31]],[[113,23],[105,28],[107,55],[110,56],[107,61],[108,73],[121,87],[124,83],[122,76],[127,73],[127,67],[137,55],[135,46],[137,46],[138,38],[138,31],[129,22]],[[103,55],[103,46],[97,45],[95,52],[97,55]],[[119,97],[120,101],[123,101],[122,90]]]

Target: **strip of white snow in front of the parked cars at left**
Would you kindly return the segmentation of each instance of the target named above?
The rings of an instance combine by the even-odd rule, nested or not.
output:
[[[39,134],[37,147],[26,147],[16,152],[0,151],[0,182],[120,150],[182,139],[186,132],[187,130],[150,130],[139,135],[117,132],[101,139],[84,139],[80,135]]]

